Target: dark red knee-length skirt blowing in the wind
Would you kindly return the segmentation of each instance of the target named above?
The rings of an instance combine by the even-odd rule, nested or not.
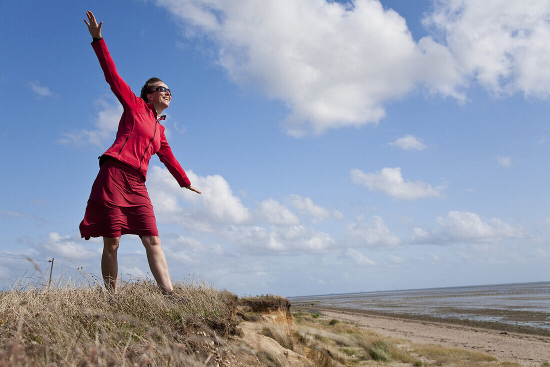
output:
[[[107,158],[92,185],[80,235],[90,239],[123,234],[158,235],[157,221],[144,177],[125,163]]]

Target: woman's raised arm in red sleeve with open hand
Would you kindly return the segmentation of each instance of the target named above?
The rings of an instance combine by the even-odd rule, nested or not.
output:
[[[84,23],[88,26],[90,35],[94,39],[92,42],[92,47],[96,52],[97,59],[100,61],[101,68],[103,69],[103,74],[105,74],[105,80],[111,86],[111,90],[114,95],[117,96],[120,103],[124,108],[135,109],[137,107],[143,106],[144,101],[136,96],[133,91],[131,91],[130,86],[120,78],[114,61],[111,58],[111,53],[105,44],[105,40],[101,36],[101,26],[103,22],[97,24],[96,17],[94,14],[88,10],[86,12],[86,17],[88,21],[84,19]]]

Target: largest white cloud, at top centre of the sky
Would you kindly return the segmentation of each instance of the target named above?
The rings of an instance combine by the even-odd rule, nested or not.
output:
[[[377,123],[383,104],[419,85],[463,98],[446,47],[416,43],[405,19],[376,0],[157,0],[188,37],[215,42],[216,62],[290,109],[288,134]]]

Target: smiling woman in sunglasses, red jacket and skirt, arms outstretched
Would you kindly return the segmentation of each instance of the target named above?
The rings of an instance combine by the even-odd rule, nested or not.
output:
[[[100,158],[100,172],[92,185],[80,234],[85,239],[103,237],[101,272],[105,287],[117,292],[117,249],[120,236],[138,234],[145,246],[151,273],[163,293],[173,292],[166,257],[161,249],[153,206],[145,188],[151,155],[172,173],[180,187],[200,194],[172,154],[164,136],[161,116],[172,100],[172,92],[158,78],[147,80],[138,98],[125,83],[101,36],[101,26],[92,12],[84,19],[94,39],[92,47],[105,79],[124,107],[113,145]]]

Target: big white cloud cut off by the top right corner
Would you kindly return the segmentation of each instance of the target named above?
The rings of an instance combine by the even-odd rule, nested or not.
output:
[[[497,95],[550,93],[550,2],[437,0],[424,19],[452,52],[461,73]]]

